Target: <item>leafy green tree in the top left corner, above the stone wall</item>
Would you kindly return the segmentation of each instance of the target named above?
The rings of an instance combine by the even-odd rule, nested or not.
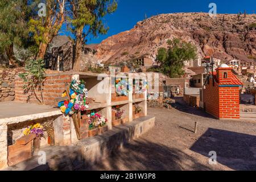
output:
[[[6,55],[13,66],[19,65],[14,46],[23,47],[28,38],[26,11],[23,0],[0,1],[0,53]]]

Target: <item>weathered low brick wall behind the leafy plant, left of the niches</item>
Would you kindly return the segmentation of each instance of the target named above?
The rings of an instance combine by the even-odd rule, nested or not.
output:
[[[48,75],[43,82],[43,97],[45,105],[57,106],[55,98],[61,97],[65,90],[65,83],[71,82],[71,75],[53,74]],[[15,79],[15,101],[40,104],[32,92],[24,93],[23,80],[19,77]],[[36,92],[40,96],[40,92]]]

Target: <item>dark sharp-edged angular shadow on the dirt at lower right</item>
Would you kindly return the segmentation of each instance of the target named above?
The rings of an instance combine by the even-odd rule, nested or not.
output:
[[[192,151],[209,157],[216,151],[217,162],[235,170],[256,170],[256,136],[209,128]]]

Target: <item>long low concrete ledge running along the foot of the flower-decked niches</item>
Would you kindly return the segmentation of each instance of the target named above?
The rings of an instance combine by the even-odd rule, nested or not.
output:
[[[135,119],[125,125],[113,127],[112,130],[93,138],[80,140],[72,146],[53,146],[42,148],[46,152],[46,164],[39,165],[40,156],[8,167],[5,170],[76,170],[100,162],[106,156],[122,147],[129,140],[139,137],[155,126],[155,117],[146,116]],[[40,153],[39,153],[40,154]]]

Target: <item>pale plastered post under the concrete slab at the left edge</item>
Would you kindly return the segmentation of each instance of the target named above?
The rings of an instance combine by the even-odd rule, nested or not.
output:
[[[8,167],[7,125],[0,126],[0,169]]]

